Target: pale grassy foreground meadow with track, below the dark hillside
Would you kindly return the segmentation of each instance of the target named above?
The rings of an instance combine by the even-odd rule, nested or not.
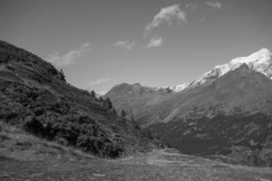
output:
[[[174,149],[154,150],[116,160],[91,157],[80,150],[0,125],[0,180],[31,181],[267,181],[272,169],[224,164],[181,155]]]

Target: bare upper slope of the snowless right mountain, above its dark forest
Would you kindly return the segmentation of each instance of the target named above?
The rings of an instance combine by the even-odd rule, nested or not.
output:
[[[147,107],[157,110],[156,114],[160,115],[160,121],[164,122],[176,117],[201,115],[212,117],[218,112],[234,114],[236,108],[244,112],[260,111],[271,114],[271,82],[263,74],[252,71],[248,65],[242,64],[237,70],[229,71],[210,85],[170,94],[160,101],[153,101]],[[161,111],[160,107],[171,109]],[[194,110],[193,114],[191,110]],[[171,115],[171,119],[168,118],[168,114]]]

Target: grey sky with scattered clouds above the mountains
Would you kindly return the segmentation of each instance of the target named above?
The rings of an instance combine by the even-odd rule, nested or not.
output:
[[[272,50],[271,0],[0,0],[0,39],[99,93],[164,87]]]

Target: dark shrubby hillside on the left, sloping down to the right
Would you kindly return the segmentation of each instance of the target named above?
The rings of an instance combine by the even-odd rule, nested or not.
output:
[[[73,87],[63,71],[2,41],[0,102],[2,123],[100,157],[152,147],[131,120],[116,114],[111,100]]]

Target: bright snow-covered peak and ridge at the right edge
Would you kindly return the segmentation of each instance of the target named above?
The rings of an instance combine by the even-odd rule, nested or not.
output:
[[[254,52],[248,57],[238,57],[226,64],[215,66],[211,71],[204,73],[197,81],[193,81],[190,86],[214,81],[228,71],[237,69],[243,63],[246,63],[253,71],[261,72],[268,78],[272,78],[272,53],[267,48],[262,48],[260,51]]]

